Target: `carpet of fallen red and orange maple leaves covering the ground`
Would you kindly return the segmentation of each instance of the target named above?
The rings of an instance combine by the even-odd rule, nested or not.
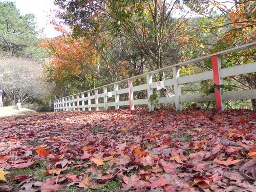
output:
[[[136,109],[0,119],[0,191],[254,191],[256,113]],[[15,170],[44,167],[16,175]],[[17,172],[22,173],[22,172]]]

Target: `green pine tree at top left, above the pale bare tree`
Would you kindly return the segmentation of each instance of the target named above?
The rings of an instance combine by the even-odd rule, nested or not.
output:
[[[0,49],[5,55],[40,57],[34,18],[33,14],[20,15],[14,3],[0,2]]]

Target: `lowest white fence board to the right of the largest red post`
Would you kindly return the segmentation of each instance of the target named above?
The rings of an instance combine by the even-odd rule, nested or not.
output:
[[[222,94],[222,99],[223,100],[256,99],[256,89],[224,92]]]

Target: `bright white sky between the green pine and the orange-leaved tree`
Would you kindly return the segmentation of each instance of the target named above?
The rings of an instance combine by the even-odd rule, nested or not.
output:
[[[53,4],[54,0],[0,0],[0,2],[14,2],[20,14],[33,13],[36,17],[37,31],[44,30],[42,37],[55,37],[60,35],[49,23],[51,17],[54,18],[52,10],[58,9]],[[49,16],[51,15],[51,16]]]

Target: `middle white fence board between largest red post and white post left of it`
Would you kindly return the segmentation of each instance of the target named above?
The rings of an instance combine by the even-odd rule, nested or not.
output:
[[[187,75],[184,77],[179,77],[178,83],[184,84],[184,83],[208,80],[208,79],[213,79],[213,78],[214,78],[214,74],[212,73],[212,71],[207,71],[204,73],[198,73],[198,74],[194,74],[194,75]]]

